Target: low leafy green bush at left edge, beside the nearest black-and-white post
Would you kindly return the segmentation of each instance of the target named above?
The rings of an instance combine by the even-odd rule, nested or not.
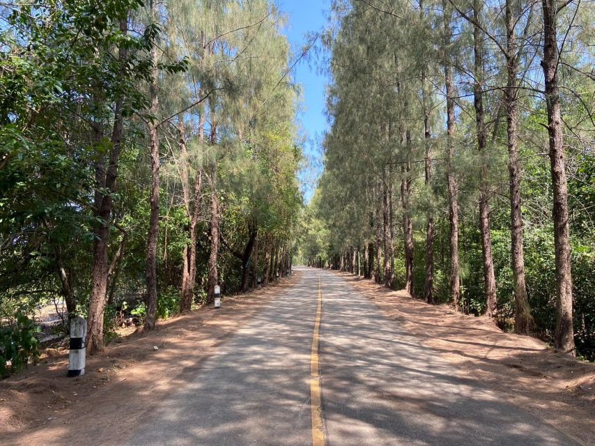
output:
[[[0,376],[21,370],[39,356],[36,334],[40,332],[41,327],[21,310],[17,310],[14,323],[0,327]]]

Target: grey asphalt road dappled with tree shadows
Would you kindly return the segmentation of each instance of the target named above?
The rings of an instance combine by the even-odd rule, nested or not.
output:
[[[238,329],[125,444],[312,445],[320,275],[327,446],[576,445],[477,381],[457,378],[453,365],[337,275],[314,268],[301,274],[300,284]]]

